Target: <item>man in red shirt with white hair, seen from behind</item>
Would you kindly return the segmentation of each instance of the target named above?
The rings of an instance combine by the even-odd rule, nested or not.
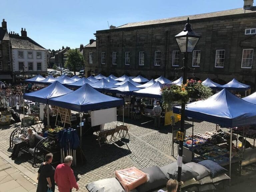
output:
[[[71,192],[74,187],[77,191],[79,189],[78,184],[76,183],[76,178],[73,170],[70,168],[72,164],[73,157],[67,156],[64,159],[64,163],[59,164],[56,167],[54,180],[58,185],[59,192]]]

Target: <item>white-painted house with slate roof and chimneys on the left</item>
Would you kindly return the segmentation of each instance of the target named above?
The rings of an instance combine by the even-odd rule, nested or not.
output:
[[[21,29],[21,36],[14,32],[9,33],[12,52],[12,68],[14,81],[25,76],[33,77],[47,73],[48,50],[27,37],[27,32]]]

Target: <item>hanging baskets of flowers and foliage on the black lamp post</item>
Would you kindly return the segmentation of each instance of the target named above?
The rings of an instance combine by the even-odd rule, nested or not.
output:
[[[168,105],[173,102],[189,101],[189,98],[207,99],[212,96],[212,90],[202,84],[201,81],[187,80],[186,84],[164,86],[162,89],[163,104]]]

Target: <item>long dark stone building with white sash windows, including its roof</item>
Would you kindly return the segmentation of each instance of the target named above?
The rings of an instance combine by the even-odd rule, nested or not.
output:
[[[86,69],[97,68],[106,75],[141,74],[149,79],[160,75],[171,80],[180,77],[182,74],[174,69],[183,65],[183,55],[174,36],[183,30],[189,17],[201,39],[189,56],[188,65],[194,73],[188,77],[209,77],[219,83],[236,78],[255,86],[256,9],[252,0],[245,0],[248,2],[251,4],[245,9],[128,23],[96,31],[95,61],[87,63]]]

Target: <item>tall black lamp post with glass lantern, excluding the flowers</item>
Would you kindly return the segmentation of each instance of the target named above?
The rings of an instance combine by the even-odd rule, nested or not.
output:
[[[189,18],[187,19],[187,23],[183,31],[181,31],[178,35],[175,36],[177,44],[180,48],[180,52],[184,54],[183,64],[184,66],[181,69],[183,71],[183,84],[187,83],[187,72],[190,71],[190,68],[187,67],[188,64],[188,54],[192,53],[198,40],[200,39],[200,35],[197,35],[193,32],[191,25],[189,23]],[[185,102],[181,103],[181,121],[180,121],[180,132],[184,133],[184,121],[185,121]],[[183,134],[182,134],[183,137]],[[178,182],[179,187],[178,191],[181,191],[181,170],[182,170],[182,155],[183,155],[183,138],[179,141],[179,154],[178,154]]]

